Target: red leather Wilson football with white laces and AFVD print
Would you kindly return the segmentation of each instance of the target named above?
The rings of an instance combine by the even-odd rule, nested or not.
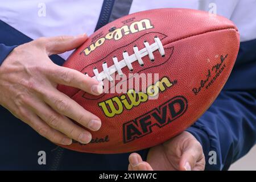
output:
[[[73,140],[62,147],[115,154],[156,146],[181,133],[220,93],[239,45],[233,22],[199,10],[147,10],[106,24],[64,64],[101,81],[104,93],[92,96],[58,86],[97,115],[101,129],[91,132],[88,144]]]

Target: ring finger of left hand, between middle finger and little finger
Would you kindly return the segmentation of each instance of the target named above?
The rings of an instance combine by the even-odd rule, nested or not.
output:
[[[44,121],[48,126],[67,135],[69,138],[75,139],[80,143],[89,143],[92,135],[89,131],[82,129],[67,117],[56,113],[51,107],[43,102],[31,103],[31,109]]]

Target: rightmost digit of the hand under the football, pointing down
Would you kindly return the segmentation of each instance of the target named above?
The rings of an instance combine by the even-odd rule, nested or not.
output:
[[[203,150],[201,144],[196,140],[189,140],[184,143],[183,154],[181,155],[179,168],[182,171],[191,171],[201,160]]]

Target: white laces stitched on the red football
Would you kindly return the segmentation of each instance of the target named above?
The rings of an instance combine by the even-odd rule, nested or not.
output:
[[[94,79],[98,81],[102,81],[107,78],[109,81],[113,81],[112,74],[117,72],[119,76],[123,76],[122,68],[127,67],[130,71],[133,71],[132,63],[138,60],[138,63],[143,66],[142,57],[147,56],[150,58],[151,61],[154,61],[155,57],[153,52],[158,50],[161,56],[164,56],[164,48],[161,40],[158,37],[155,37],[155,43],[148,44],[148,42],[144,41],[145,48],[139,50],[137,46],[133,47],[134,54],[130,55],[128,52],[123,52],[123,60],[118,62],[117,57],[113,57],[114,64],[108,67],[107,63],[104,62],[102,64],[103,71],[101,73],[98,72],[97,68],[93,69]]]

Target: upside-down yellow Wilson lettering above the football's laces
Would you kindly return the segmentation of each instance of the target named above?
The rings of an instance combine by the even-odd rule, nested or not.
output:
[[[117,28],[112,32],[109,32],[105,37],[96,40],[95,43],[90,44],[90,46],[86,47],[82,52],[84,52],[85,55],[89,55],[90,52],[104,44],[106,40],[120,40],[124,35],[134,34],[136,32],[148,30],[150,28],[154,28],[154,26],[152,26],[149,19],[142,19],[140,21],[133,22],[130,24],[130,26],[124,25],[121,28]]]

